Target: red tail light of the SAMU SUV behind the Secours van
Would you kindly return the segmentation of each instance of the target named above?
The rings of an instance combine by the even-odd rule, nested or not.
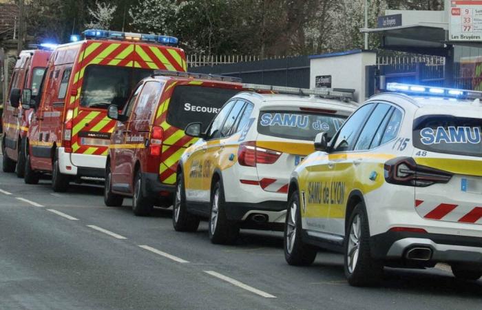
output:
[[[257,147],[255,141],[244,142],[238,149],[238,163],[242,166],[256,167],[256,164],[273,164],[281,152]]]

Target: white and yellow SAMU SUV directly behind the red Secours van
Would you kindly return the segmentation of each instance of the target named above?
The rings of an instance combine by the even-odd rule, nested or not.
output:
[[[178,165],[173,223],[194,231],[209,219],[213,243],[231,243],[240,228],[280,229],[289,174],[313,152],[319,132],[333,136],[354,110],[351,93],[244,84],[254,90],[229,100]],[[277,94],[258,92],[274,91]],[[321,98],[324,96],[325,98]]]

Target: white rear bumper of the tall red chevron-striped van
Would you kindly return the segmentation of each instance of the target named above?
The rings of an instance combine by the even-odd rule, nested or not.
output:
[[[87,176],[92,178],[104,178],[105,176],[106,156],[65,153],[64,147],[59,147],[57,149],[57,156],[57,158],[59,158],[59,169],[61,174],[68,174],[70,176]],[[72,161],[85,163],[85,165],[76,166]]]

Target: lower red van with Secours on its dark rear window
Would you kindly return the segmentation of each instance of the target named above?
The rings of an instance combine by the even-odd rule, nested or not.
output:
[[[180,156],[197,141],[184,128],[193,122],[207,127],[240,91],[240,79],[207,74],[156,72],[141,81],[116,117],[107,155],[105,204],[122,205],[124,196],[132,196],[136,215],[149,214],[154,204],[169,207]]]

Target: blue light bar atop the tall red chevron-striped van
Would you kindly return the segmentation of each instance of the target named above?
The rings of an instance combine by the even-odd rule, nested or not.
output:
[[[158,34],[143,34],[135,32],[120,32],[112,30],[96,30],[89,29],[83,32],[85,39],[113,39],[113,40],[125,40],[125,41],[141,41],[160,43],[164,45],[177,45],[179,43],[178,38],[162,36]]]

